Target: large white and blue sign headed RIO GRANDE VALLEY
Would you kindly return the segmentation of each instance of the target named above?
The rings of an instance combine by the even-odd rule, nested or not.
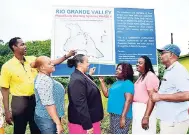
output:
[[[62,57],[74,49],[89,57],[95,75],[114,75],[116,65],[148,56],[157,68],[153,9],[54,7],[51,57]],[[69,76],[74,69],[66,62],[56,66],[53,76]]]

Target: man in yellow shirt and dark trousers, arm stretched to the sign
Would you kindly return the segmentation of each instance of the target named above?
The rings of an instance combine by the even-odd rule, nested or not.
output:
[[[39,134],[40,131],[34,122],[34,79],[37,70],[30,66],[36,57],[25,56],[26,45],[19,37],[12,38],[9,41],[9,47],[13,51],[14,57],[2,66],[0,78],[6,122],[12,124],[13,120],[15,134],[24,134],[28,122],[31,133]],[[54,60],[53,63],[60,64],[73,55],[75,55],[75,51],[71,50],[67,55]],[[9,91],[12,95],[11,111],[9,109]]]

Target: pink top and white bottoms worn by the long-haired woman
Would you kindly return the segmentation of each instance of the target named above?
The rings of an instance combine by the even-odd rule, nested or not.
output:
[[[147,102],[149,99],[148,91],[158,91],[159,79],[149,71],[145,78],[138,79],[135,82],[135,92],[133,98],[133,121],[132,121],[132,134],[156,134],[156,116],[155,107],[150,115],[149,129],[144,130],[141,126],[142,118],[145,114]]]

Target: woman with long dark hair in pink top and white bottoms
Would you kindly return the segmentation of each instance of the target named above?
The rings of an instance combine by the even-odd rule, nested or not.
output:
[[[149,95],[158,90],[159,79],[147,56],[141,56],[136,67],[139,78],[134,85],[132,133],[156,134],[154,103]]]

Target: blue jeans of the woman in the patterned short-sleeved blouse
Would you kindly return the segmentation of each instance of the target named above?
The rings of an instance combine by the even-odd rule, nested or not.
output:
[[[34,120],[41,134],[56,134],[56,124],[52,119],[42,118],[35,114]]]

